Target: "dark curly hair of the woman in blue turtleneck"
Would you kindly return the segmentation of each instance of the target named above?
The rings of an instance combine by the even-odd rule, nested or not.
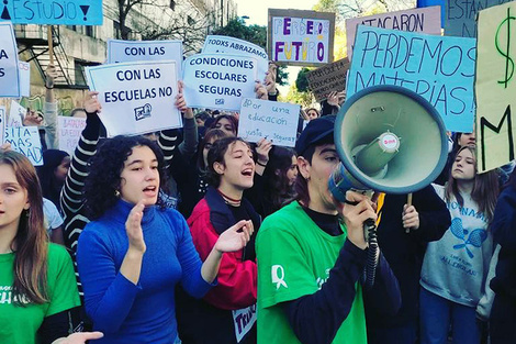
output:
[[[88,162],[89,174],[85,180],[85,207],[90,219],[96,220],[116,204],[124,163],[137,146],[149,147],[158,159],[159,184],[165,182],[164,156],[156,143],[143,136],[115,136],[105,140]],[[158,206],[164,207],[158,197]]]

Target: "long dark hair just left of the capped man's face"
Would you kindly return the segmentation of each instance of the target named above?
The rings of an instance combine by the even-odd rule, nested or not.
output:
[[[263,173],[266,179],[265,198],[274,209],[280,209],[295,197],[295,191],[287,178],[293,156],[295,156],[295,152],[292,148],[274,146],[270,152],[269,163]]]

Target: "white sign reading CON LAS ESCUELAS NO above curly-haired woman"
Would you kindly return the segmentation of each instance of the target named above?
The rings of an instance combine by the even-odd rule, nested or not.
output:
[[[100,119],[108,134],[132,135],[179,127],[176,62],[136,62],[87,67],[91,90],[99,92]]]

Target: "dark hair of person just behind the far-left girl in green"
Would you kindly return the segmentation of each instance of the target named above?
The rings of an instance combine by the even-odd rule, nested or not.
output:
[[[68,153],[64,151],[46,149],[43,152],[43,166],[36,167],[43,197],[49,199],[57,207],[59,207],[63,181],[56,179],[54,171],[67,156],[69,156]]]

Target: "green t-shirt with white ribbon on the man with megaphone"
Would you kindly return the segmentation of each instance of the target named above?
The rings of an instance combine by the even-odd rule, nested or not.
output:
[[[343,232],[346,228],[343,225]],[[328,279],[346,240],[319,229],[298,202],[269,215],[256,241],[258,260],[258,344],[300,343],[279,303],[312,295]],[[367,344],[360,285],[351,311],[333,341]]]

